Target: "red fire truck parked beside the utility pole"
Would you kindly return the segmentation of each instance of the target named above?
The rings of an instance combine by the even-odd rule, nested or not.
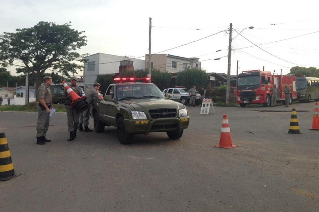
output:
[[[278,102],[285,102],[284,88],[287,84],[291,88],[290,103],[297,99],[296,77],[294,75],[274,75],[270,71],[251,70],[238,74],[237,99],[241,107],[247,104],[263,104],[270,106],[271,88],[277,85],[279,88]]]

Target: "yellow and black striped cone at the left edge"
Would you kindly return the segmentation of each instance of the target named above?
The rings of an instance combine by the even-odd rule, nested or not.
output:
[[[0,180],[10,180],[16,177],[7,138],[4,132],[0,133]]]

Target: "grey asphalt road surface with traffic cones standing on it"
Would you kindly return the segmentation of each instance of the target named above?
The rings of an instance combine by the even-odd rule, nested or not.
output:
[[[308,110],[297,112],[302,135],[286,134],[292,107]],[[53,141],[36,145],[36,114],[0,112],[0,132],[22,173],[0,182],[0,211],[318,211],[314,102],[291,108],[215,107],[199,115],[189,107],[181,139],[151,133],[131,145],[118,142],[114,127],[68,142],[64,114],[51,118]],[[236,148],[214,147],[223,114]]]

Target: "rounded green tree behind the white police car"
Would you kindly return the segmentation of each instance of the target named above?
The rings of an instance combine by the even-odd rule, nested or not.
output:
[[[186,86],[186,88],[191,88],[195,85],[196,88],[199,88],[205,85],[207,79],[208,74],[205,70],[189,68],[177,74],[176,85]]]

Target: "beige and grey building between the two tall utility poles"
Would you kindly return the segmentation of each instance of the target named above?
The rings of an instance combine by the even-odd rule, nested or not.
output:
[[[199,58],[180,57],[171,54],[152,54],[151,68],[159,69],[161,72],[177,73],[187,68],[201,68]],[[148,68],[148,54],[145,54],[145,68]]]

